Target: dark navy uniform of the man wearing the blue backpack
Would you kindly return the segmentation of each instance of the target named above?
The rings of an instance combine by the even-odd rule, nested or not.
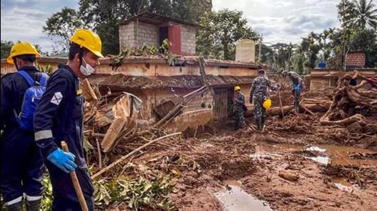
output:
[[[34,66],[24,66],[39,81],[41,73]],[[26,89],[30,86],[17,73],[1,78],[1,194],[4,201],[21,201],[23,193],[34,200],[42,197],[44,165],[32,131],[21,130],[16,114],[21,111]]]

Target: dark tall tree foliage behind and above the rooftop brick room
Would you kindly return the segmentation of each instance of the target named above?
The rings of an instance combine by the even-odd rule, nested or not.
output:
[[[195,21],[212,8],[210,0],[80,0],[79,5],[85,25],[95,29],[101,38],[105,55],[119,53],[118,23],[131,16],[148,11],[186,21]]]

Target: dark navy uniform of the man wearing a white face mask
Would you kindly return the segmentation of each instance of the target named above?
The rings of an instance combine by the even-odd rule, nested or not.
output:
[[[65,141],[75,155],[76,174],[89,210],[94,210],[93,184],[83,149],[84,97],[75,72],[60,64],[48,83],[34,115],[36,144],[40,147],[53,185],[53,210],[81,210],[69,173],[53,165],[47,156]]]

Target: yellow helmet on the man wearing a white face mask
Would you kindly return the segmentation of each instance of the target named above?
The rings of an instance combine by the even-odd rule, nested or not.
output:
[[[97,55],[97,57],[104,57],[104,55],[101,54],[101,38],[99,38],[97,33],[94,33],[89,29],[77,29],[75,33],[73,33],[73,36],[69,39],[69,41],[80,45],[80,47],[88,49],[89,51]]]

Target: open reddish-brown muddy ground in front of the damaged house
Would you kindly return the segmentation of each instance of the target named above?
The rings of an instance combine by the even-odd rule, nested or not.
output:
[[[142,150],[123,165],[122,172],[147,178],[159,173],[173,176],[175,191],[169,198],[177,210],[235,210],[216,196],[234,186],[272,210],[375,210],[377,131],[369,126],[377,117],[368,117],[367,125],[340,127],[322,126],[321,115],[268,117],[264,133],[250,128],[234,131],[232,121],[199,132],[187,130],[180,139]],[[114,154],[124,154],[127,147],[119,145]],[[108,163],[117,158],[110,156]],[[298,180],[282,178],[282,170]],[[123,203],[108,207],[124,209]]]

